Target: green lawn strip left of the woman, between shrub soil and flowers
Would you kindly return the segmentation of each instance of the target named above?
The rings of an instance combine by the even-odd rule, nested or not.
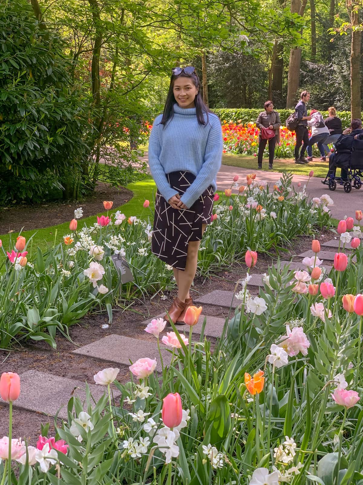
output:
[[[143,216],[145,219],[148,217],[148,215],[151,216],[150,209],[144,209],[143,208],[143,203],[145,199],[150,200],[150,208],[153,210],[154,206],[154,196],[155,196],[155,191],[156,191],[156,186],[154,181],[150,176],[146,176],[145,179],[140,180],[135,183],[130,183],[127,185],[127,188],[132,190],[134,193],[133,198],[127,202],[126,204],[123,204],[120,207],[115,207],[112,208],[110,212],[116,212],[116,210],[121,210],[125,214],[126,217],[136,215],[136,217]],[[100,200],[100,206],[102,207],[102,200]],[[78,205],[75,205],[76,207],[82,206],[81,203]],[[101,214],[106,214],[106,211],[104,210],[103,212],[100,212],[97,215]],[[83,227],[85,224],[88,226],[93,225],[93,223],[97,222],[97,217],[96,215],[82,218],[78,220],[78,228]],[[36,254],[36,247],[39,246],[42,251],[46,251],[47,247],[49,245],[53,245],[54,242],[58,243],[62,241],[63,235],[68,234],[69,231],[69,222],[66,222],[64,224],[60,224],[58,226],[50,226],[50,227],[45,227],[43,229],[33,229],[29,231],[25,231],[22,233],[22,235],[29,240],[31,236],[32,239],[30,241],[30,244],[28,245],[27,249],[29,251],[29,258],[32,259],[34,255]],[[16,239],[17,233],[14,232],[12,234],[13,241]],[[8,249],[9,247],[9,239],[10,235],[9,234],[4,234],[0,235],[0,239],[2,240],[2,245],[5,250]],[[0,261],[3,259],[3,253],[0,251]]]

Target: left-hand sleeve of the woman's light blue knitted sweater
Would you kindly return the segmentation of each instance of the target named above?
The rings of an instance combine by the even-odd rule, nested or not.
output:
[[[161,153],[160,129],[162,129],[163,126],[159,125],[160,120],[158,118],[159,117],[154,120],[149,138],[149,167],[152,178],[156,183],[156,187],[159,189],[160,194],[162,194],[165,200],[168,201],[170,197],[178,194],[178,191],[170,187],[165,175],[164,167],[159,160]]]

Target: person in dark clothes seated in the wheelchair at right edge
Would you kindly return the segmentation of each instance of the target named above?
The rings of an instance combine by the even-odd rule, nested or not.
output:
[[[336,167],[341,168],[342,181],[348,181],[348,168],[351,166],[352,148],[363,150],[363,143],[355,140],[363,140],[363,129],[361,119],[352,119],[350,128],[346,128],[335,143],[335,153],[329,158],[329,172],[335,176]],[[356,146],[355,146],[356,145]],[[353,152],[354,153],[354,152]],[[362,158],[363,164],[363,158]]]

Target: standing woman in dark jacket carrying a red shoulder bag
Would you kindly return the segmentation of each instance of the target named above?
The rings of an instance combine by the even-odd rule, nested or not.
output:
[[[269,170],[272,170],[273,157],[275,155],[275,145],[276,142],[280,143],[281,121],[279,113],[277,113],[277,111],[273,111],[272,101],[266,101],[266,103],[264,104],[264,108],[265,111],[261,111],[256,120],[256,126],[260,129],[260,134],[258,135],[257,163],[258,168],[262,168],[263,152],[265,151],[266,143],[269,142]],[[275,136],[270,138],[270,140],[264,140],[261,137],[262,128],[273,129],[275,131]]]

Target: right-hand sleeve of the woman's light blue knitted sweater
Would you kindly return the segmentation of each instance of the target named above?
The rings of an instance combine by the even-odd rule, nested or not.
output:
[[[222,127],[218,118],[213,119],[208,134],[207,146],[204,153],[204,162],[194,182],[181,196],[181,202],[189,209],[201,194],[216,178],[222,163],[223,137]]]

